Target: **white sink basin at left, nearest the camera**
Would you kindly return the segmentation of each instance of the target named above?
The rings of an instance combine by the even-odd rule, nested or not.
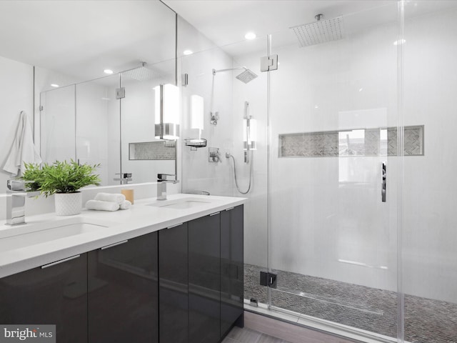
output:
[[[9,227],[8,229],[0,230],[0,252],[86,234],[108,226],[108,224],[96,219],[76,217]]]

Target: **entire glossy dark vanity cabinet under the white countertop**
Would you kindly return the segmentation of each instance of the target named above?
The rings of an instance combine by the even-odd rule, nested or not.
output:
[[[243,325],[243,206],[0,279],[0,324],[61,343],[218,343]]]

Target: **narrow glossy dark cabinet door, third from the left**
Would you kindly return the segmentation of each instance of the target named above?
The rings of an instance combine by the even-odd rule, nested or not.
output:
[[[187,223],[159,231],[159,341],[188,342]]]

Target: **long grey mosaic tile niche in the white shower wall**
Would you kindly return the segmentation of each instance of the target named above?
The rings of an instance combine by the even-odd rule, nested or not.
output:
[[[424,126],[405,126],[405,156],[423,156]],[[397,129],[354,129],[279,135],[279,157],[396,156]]]

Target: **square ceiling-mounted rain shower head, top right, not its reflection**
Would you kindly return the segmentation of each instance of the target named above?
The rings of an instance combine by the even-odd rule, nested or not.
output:
[[[301,48],[343,38],[343,17],[321,20],[322,17],[323,14],[317,14],[316,22],[289,28],[296,34]]]

